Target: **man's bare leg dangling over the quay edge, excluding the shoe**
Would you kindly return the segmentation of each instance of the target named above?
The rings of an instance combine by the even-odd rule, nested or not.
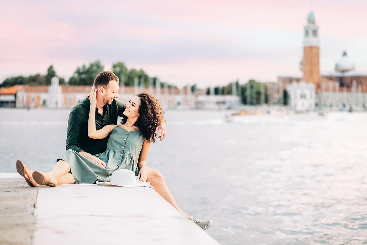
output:
[[[147,167],[146,175],[147,175],[146,181],[150,182],[150,184],[154,186],[156,192],[158,192],[158,194],[161,195],[161,197],[166,199],[167,202],[171,203],[171,205],[174,206],[174,208],[177,209],[178,212],[182,213],[182,215],[185,216],[186,219],[190,219],[190,216],[186,215],[186,213],[184,213],[177,205],[170,190],[168,190],[166,181],[164,181],[162,173],[159,172],[158,170]]]

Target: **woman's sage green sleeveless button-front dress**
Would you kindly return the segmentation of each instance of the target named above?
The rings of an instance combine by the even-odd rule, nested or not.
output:
[[[117,126],[111,131],[106,151],[94,155],[104,161],[107,167],[101,167],[71,149],[62,154],[57,161],[62,159],[69,163],[77,184],[110,181],[112,172],[117,169],[129,169],[138,176],[136,159],[139,157],[144,140],[141,130],[127,131]]]

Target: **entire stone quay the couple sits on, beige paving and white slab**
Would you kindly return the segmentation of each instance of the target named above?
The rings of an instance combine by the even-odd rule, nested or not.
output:
[[[0,173],[0,244],[219,244],[149,187],[29,187]]]

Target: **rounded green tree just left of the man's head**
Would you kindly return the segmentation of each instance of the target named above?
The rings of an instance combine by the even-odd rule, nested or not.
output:
[[[76,69],[74,75],[69,79],[69,84],[92,85],[95,77],[101,71],[103,71],[103,65],[99,60],[90,63],[88,67],[84,64]]]

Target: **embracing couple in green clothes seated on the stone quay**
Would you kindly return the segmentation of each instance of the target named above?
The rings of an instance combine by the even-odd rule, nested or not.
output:
[[[58,184],[94,184],[110,181],[116,170],[128,169],[149,181],[187,219],[203,230],[211,220],[195,219],[184,213],[175,202],[158,170],[146,166],[149,145],[166,137],[166,124],[159,101],[149,93],[139,93],[127,104],[118,97],[119,78],[110,71],[100,72],[94,79],[90,96],[71,110],[68,122],[66,152],[50,172],[34,171],[17,161],[17,171],[31,187]],[[117,117],[120,125],[116,125]]]

